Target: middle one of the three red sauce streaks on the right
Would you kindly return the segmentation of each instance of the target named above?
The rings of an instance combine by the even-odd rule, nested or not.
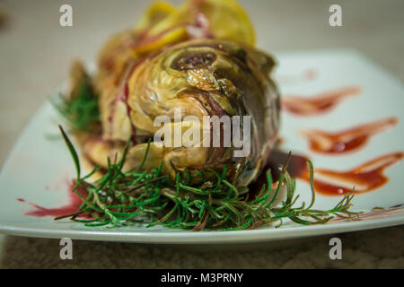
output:
[[[372,135],[382,133],[398,123],[397,117],[388,117],[338,132],[321,130],[301,131],[313,152],[337,154],[356,150],[368,142]]]

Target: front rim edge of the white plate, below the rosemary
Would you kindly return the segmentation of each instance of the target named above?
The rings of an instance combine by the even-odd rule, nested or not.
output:
[[[71,223],[71,222],[66,222]],[[0,232],[8,235],[49,238],[85,239],[96,241],[116,241],[150,244],[225,244],[299,239],[311,236],[330,235],[360,230],[373,230],[404,224],[404,215],[356,222],[335,222],[311,226],[291,226],[283,229],[267,228],[259,230],[206,230],[161,232],[145,231],[104,231],[104,230],[53,230],[33,227],[15,227],[0,224]]]

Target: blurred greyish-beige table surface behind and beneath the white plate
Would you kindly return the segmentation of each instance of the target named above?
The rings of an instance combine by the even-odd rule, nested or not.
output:
[[[271,52],[355,48],[404,80],[404,1],[241,1],[257,29],[258,46]],[[73,6],[73,27],[61,27],[61,4]],[[179,3],[175,1],[174,3]],[[7,0],[0,2],[0,162],[42,102],[66,80],[69,64],[93,61],[107,37],[131,26],[147,1]],[[342,7],[342,27],[329,26],[329,5]],[[0,17],[1,17],[0,13]],[[404,267],[404,228],[338,235],[343,260],[329,259],[329,239],[259,244],[210,252],[202,247],[77,241],[74,260],[59,258],[58,241],[1,236],[7,267]],[[228,250],[228,249],[232,250]],[[272,250],[277,248],[276,251]],[[203,253],[198,251],[203,250]],[[237,251],[237,252],[234,252]]]

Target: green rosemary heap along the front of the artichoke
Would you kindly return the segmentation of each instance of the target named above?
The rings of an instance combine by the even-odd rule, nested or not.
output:
[[[312,209],[314,198],[307,208],[304,208],[304,204],[294,207],[299,196],[294,196],[296,185],[285,169],[287,162],[274,194],[271,192],[272,178],[267,173],[267,184],[261,188],[259,196],[250,200],[246,187],[235,187],[226,180],[225,166],[224,172],[216,173],[215,183],[205,181],[198,186],[190,186],[189,178],[181,178],[180,173],[177,173],[175,180],[162,175],[162,165],[154,170],[142,170],[139,167],[123,171],[127,148],[118,162],[109,160],[108,170],[102,178],[89,182],[89,175],[99,168],[95,167],[89,175],[81,177],[77,152],[63,128],[59,127],[75,162],[77,178],[74,191],[83,200],[76,213],[66,216],[87,226],[116,227],[132,222],[149,222],[149,227],[161,224],[170,228],[193,230],[242,230],[275,222],[280,226],[284,219],[308,225],[329,222],[334,216],[349,220],[359,214],[349,211],[354,197],[352,193],[327,211]],[[141,166],[147,159],[147,152],[148,149]],[[311,161],[309,166],[312,182]],[[284,185],[285,201],[277,207],[272,206]],[[313,185],[311,187],[314,194]],[[90,219],[77,219],[83,214],[89,215]]]

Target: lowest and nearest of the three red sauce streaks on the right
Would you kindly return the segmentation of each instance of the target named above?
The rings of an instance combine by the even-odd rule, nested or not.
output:
[[[327,196],[341,196],[352,191],[363,194],[385,185],[389,178],[383,171],[392,164],[402,160],[403,152],[392,152],[356,167],[353,170],[333,171],[314,170],[314,188],[317,193]],[[298,176],[309,182],[309,170]]]

